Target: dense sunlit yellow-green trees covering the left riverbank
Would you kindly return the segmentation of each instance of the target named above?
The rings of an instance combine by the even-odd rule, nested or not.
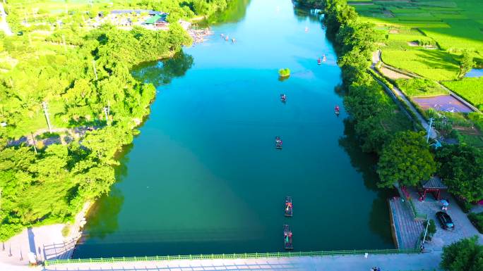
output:
[[[145,8],[171,4],[181,9],[191,4],[188,8],[194,15],[213,13],[227,1],[139,3]],[[14,14],[8,17],[15,18]],[[43,42],[65,46],[41,51],[44,47],[32,45],[28,32],[2,35],[0,40],[4,55],[18,60],[0,73],[0,118],[8,123],[0,130],[0,240],[28,225],[71,220],[86,200],[109,191],[115,182],[115,153],[131,143],[137,132],[133,128],[149,113],[155,98],[155,87],[136,80],[131,68],[143,61],[171,57],[181,46],[191,44],[191,38],[176,22],[170,23],[168,31],[142,27],[126,31],[112,25],[87,31],[74,20],[57,27]],[[186,61],[166,77],[184,73],[191,66],[192,58],[176,55]],[[37,150],[8,144],[20,128],[28,129],[35,116],[42,116],[42,101],[56,107],[51,116],[56,125],[95,129],[68,144]],[[107,122],[102,113],[106,106]]]

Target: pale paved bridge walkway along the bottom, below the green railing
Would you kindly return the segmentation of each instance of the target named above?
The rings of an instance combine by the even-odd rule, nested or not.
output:
[[[260,258],[234,260],[170,260],[133,263],[90,263],[49,265],[51,270],[81,271],[210,271],[210,270],[317,270],[369,271],[380,267],[383,271],[438,270],[440,253],[392,254],[364,256],[324,256],[297,258]]]

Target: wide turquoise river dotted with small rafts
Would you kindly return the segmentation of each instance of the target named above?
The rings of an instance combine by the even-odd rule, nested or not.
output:
[[[208,41],[133,70],[157,98],[73,258],[284,251],[284,224],[294,251],[394,247],[391,192],[345,121],[321,15],[237,3]]]

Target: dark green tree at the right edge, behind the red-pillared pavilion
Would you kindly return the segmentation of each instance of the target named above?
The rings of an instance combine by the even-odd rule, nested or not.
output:
[[[483,198],[483,153],[467,145],[443,146],[436,151],[438,175],[449,191],[466,201]]]

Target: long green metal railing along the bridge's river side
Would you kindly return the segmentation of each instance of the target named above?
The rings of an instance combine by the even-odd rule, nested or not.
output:
[[[398,254],[419,253],[419,249],[366,249],[352,251],[310,251],[310,252],[275,252],[275,253],[231,253],[231,254],[199,254],[178,256],[145,256],[145,257],[122,257],[122,258],[88,258],[46,260],[44,265],[57,265],[64,263],[119,263],[137,261],[160,261],[160,260],[215,260],[215,259],[241,259],[241,258],[292,258],[304,256],[340,256],[340,255],[364,255],[369,254]]]

